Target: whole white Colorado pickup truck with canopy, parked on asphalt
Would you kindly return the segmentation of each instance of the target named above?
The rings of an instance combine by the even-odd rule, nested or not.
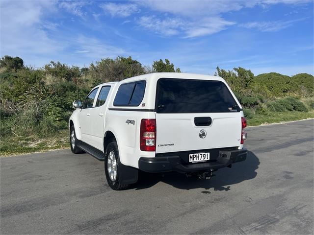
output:
[[[105,161],[114,190],[136,183],[138,170],[209,179],[247,156],[241,105],[218,76],[140,75],[98,85],[73,106],[71,150]]]

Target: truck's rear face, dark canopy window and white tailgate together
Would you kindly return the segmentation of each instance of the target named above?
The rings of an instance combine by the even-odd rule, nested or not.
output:
[[[156,153],[240,146],[239,103],[223,79],[160,78]]]

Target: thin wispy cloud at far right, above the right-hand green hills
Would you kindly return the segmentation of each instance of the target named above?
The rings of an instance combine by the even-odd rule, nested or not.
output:
[[[291,21],[250,22],[246,24],[240,24],[240,26],[245,28],[255,28],[261,32],[277,32],[281,29],[288,28],[295,22],[304,21],[305,19],[307,18],[301,18]]]

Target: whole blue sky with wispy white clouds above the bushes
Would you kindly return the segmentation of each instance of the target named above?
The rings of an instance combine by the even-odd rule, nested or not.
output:
[[[89,66],[132,56],[183,72],[314,74],[312,0],[1,0],[0,55]]]

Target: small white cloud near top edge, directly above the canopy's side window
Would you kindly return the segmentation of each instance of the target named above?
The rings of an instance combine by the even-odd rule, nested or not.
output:
[[[140,11],[137,5],[132,3],[122,4],[108,2],[101,4],[100,7],[103,8],[104,11],[106,13],[109,13],[111,16],[117,17],[127,17]]]

